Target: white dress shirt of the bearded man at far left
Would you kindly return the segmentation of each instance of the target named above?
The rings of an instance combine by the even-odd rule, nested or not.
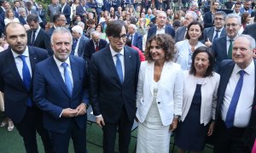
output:
[[[13,53],[13,55],[14,55],[15,64],[16,64],[17,69],[18,69],[18,71],[19,71],[20,77],[21,77],[21,79],[23,80],[23,76],[22,76],[23,62],[22,62],[22,59],[20,59],[20,58],[18,57],[20,54],[15,53],[15,51],[13,51],[13,49],[11,49],[11,50],[12,50],[12,53]],[[27,65],[28,70],[29,70],[29,72],[30,72],[30,76],[32,77],[32,69],[31,69],[31,64],[30,64],[30,59],[29,59],[29,52],[28,52],[27,46],[26,46],[26,49],[25,49],[24,53],[21,54],[21,55],[24,55],[24,56],[25,56],[26,65]]]

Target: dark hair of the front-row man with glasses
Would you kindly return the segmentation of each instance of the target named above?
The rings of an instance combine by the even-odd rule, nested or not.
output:
[[[119,34],[122,31],[123,26],[125,27],[125,22],[122,20],[112,20],[108,22],[106,28],[106,34],[108,37],[119,37]]]

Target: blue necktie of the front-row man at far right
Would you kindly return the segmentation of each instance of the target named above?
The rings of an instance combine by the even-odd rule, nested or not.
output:
[[[238,100],[239,100],[239,97],[241,94],[241,87],[242,87],[243,76],[245,74],[245,71],[241,70],[241,71],[239,71],[239,73],[240,73],[240,78],[239,78],[238,82],[236,83],[235,92],[231,99],[230,108],[228,110],[226,120],[225,120],[226,127],[228,127],[228,128],[233,127],[233,124],[234,124],[236,105],[238,103]]]

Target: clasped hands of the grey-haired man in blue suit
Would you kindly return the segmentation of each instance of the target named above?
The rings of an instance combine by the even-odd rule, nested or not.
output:
[[[81,103],[76,109],[63,109],[62,115],[64,117],[82,116],[86,113],[86,105]]]

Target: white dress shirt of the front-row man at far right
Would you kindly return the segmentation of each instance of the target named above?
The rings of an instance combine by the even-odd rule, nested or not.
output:
[[[225,94],[224,94],[224,103],[221,108],[221,116],[222,120],[225,121],[229,107],[230,102],[232,99],[232,96],[234,94],[236,83],[238,82],[240,78],[239,71],[241,71],[241,68],[238,65],[235,65],[234,70],[232,71],[232,74],[230,76],[230,81],[227,85]],[[235,113],[235,119],[234,119],[234,126],[235,127],[247,127],[252,106],[253,106],[253,97],[254,97],[254,88],[255,88],[255,65],[252,61],[250,65],[247,66],[244,77],[243,77],[243,83],[241,88],[241,94],[236,106],[236,113]]]

